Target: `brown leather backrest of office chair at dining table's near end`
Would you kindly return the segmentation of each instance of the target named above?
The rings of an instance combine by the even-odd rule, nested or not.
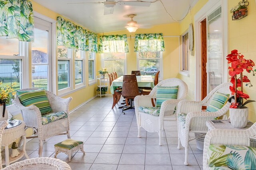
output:
[[[122,96],[124,98],[135,98],[138,95],[140,95],[140,93],[136,75],[124,75],[122,85]]]

